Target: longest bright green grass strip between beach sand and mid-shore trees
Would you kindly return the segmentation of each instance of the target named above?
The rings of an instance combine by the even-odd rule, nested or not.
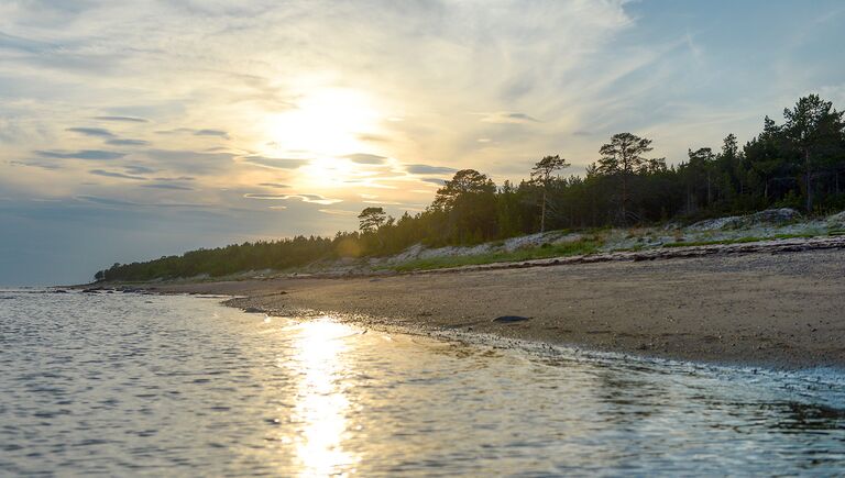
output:
[[[384,269],[407,273],[410,270],[445,269],[449,267],[478,266],[494,263],[518,263],[522,260],[592,254],[599,251],[601,245],[600,241],[591,238],[563,244],[544,244],[541,247],[519,249],[512,253],[491,253],[474,256],[432,257],[429,259],[409,260],[395,266],[387,266]]]

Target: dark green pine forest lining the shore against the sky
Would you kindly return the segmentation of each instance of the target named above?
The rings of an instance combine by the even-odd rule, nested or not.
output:
[[[334,237],[254,242],[145,263],[114,264],[96,280],[141,281],[290,269],[317,260],[396,254],[408,246],[468,245],[551,230],[692,222],[788,207],[808,215],[845,209],[843,112],[817,95],[768,116],[744,145],[728,134],[716,147],[690,148],[674,165],[650,157],[652,140],[613,135],[584,176],[566,175],[560,155],[538,158],[528,178],[495,185],[473,169],[454,174],[415,215],[371,207],[360,227]]]

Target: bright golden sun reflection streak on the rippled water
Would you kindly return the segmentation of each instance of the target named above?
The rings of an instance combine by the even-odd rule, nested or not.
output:
[[[354,471],[355,456],[343,449],[349,399],[342,388],[350,327],[328,318],[299,324],[295,359],[299,377],[294,420],[299,424],[296,454],[305,477],[347,476]]]

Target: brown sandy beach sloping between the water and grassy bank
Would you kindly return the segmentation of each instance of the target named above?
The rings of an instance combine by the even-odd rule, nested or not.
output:
[[[844,248],[544,265],[146,289],[245,296],[230,304],[277,315],[333,313],[364,326],[718,364],[845,367]],[[502,315],[527,320],[495,321]]]

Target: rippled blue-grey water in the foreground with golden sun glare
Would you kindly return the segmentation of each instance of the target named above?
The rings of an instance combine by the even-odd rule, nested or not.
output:
[[[845,380],[0,291],[0,475],[845,473]]]

